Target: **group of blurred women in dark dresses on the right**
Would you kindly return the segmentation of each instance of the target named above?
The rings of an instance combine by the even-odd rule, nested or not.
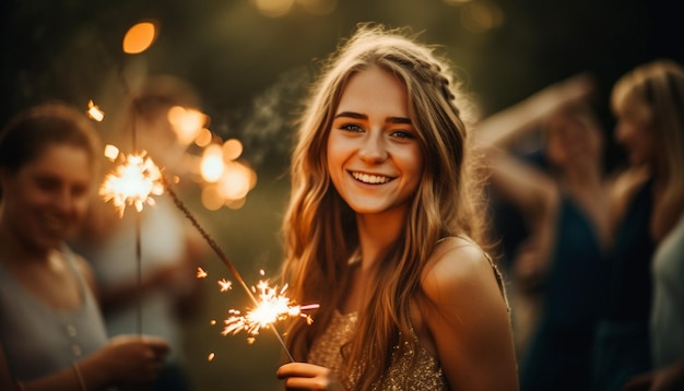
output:
[[[476,129],[520,387],[680,390],[684,71],[663,59],[623,75],[614,130],[598,120],[595,90],[579,74]],[[608,138],[626,162],[606,162]]]

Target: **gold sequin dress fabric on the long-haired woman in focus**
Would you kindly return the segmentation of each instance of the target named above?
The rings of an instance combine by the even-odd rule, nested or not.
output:
[[[314,343],[309,352],[308,362],[332,370],[339,379],[342,379],[347,390],[355,389],[358,375],[345,376],[344,363],[340,348],[354,337],[354,328],[358,320],[356,312],[340,313],[334,311],[330,325],[323,334]],[[404,354],[394,357],[389,368],[387,379],[381,384],[374,384],[372,390],[449,390],[447,379],[437,360],[432,357],[423,346],[418,344],[417,336],[412,331],[411,343],[406,342]],[[396,352],[399,352],[396,349]],[[413,357],[417,355],[415,365]]]

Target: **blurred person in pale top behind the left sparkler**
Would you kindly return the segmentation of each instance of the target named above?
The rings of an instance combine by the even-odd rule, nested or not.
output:
[[[176,175],[187,178],[184,159],[187,145],[178,141],[168,114],[172,107],[198,105],[193,90],[181,80],[149,79],[131,98],[122,122],[115,121],[111,126],[118,127],[111,141],[126,153],[134,137],[138,151],[133,152],[145,151],[167,180]],[[110,162],[104,165],[114,166]],[[129,208],[122,216],[111,204],[94,202],[72,245],[92,263],[109,335],[134,333],[141,322],[143,333],[164,337],[172,346],[172,354],[155,389],[184,391],[189,389],[191,379],[184,355],[182,324],[198,313],[201,305],[196,273],[205,247],[167,194],[154,197],[154,202],[140,212]],[[140,270],[137,218],[140,220]]]

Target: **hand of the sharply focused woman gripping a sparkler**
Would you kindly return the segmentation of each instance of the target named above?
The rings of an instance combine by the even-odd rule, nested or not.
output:
[[[278,368],[275,375],[285,380],[287,390],[344,391],[344,387],[330,369],[314,364],[285,364]]]

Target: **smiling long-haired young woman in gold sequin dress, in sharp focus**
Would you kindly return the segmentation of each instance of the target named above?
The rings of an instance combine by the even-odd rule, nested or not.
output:
[[[302,362],[278,376],[297,390],[517,390],[467,99],[403,33],[359,26],[300,118],[283,279],[320,309],[288,330]]]

